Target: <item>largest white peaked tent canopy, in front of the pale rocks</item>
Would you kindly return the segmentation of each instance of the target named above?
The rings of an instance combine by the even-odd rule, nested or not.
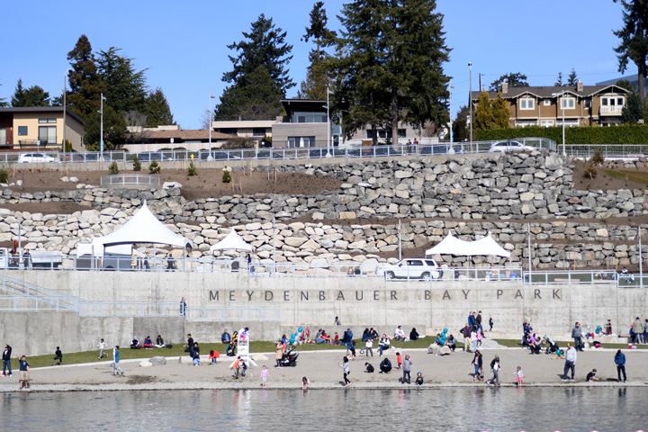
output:
[[[146,202],[128,220],[107,236],[93,238],[93,247],[104,248],[114,245],[125,245],[132,243],[152,243],[159,245],[171,245],[177,247],[191,247],[191,242],[173,232],[171,229],[157,220],[155,215],[148,209]]]

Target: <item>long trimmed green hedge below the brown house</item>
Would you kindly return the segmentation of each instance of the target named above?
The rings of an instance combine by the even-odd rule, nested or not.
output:
[[[492,141],[540,137],[554,139],[556,144],[563,143],[563,127],[543,128],[509,128],[493,130],[475,130],[475,140]],[[618,126],[581,126],[565,128],[566,144],[648,144],[648,125],[624,124]]]

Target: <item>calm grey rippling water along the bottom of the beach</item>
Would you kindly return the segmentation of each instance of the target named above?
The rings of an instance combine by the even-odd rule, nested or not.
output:
[[[641,387],[4,393],[3,430],[635,431]]]

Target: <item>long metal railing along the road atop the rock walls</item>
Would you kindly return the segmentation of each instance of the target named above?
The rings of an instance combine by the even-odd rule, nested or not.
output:
[[[526,146],[555,150],[555,141],[545,138],[515,139]],[[402,139],[401,139],[402,142]],[[141,153],[124,150],[65,153],[58,151],[41,151],[51,157],[57,157],[61,162],[69,163],[132,163],[136,156],[142,156],[139,161],[143,164],[156,160],[158,163],[174,163],[180,161],[238,161],[238,160],[288,160],[288,159],[313,159],[326,157],[396,157],[396,156],[435,156],[457,153],[483,153],[488,152],[491,144],[499,141],[474,141],[438,144],[399,144],[362,147],[358,144],[345,144],[345,147],[305,147],[305,148],[238,148],[232,150],[222,149],[167,149],[148,152],[146,156]],[[169,144],[169,146],[173,146]],[[151,153],[153,153],[151,155]],[[0,153],[0,163],[14,163],[18,161],[20,152]]]

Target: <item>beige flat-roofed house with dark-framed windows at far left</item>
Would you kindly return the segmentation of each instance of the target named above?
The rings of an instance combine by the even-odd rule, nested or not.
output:
[[[65,117],[65,139],[76,151],[84,151],[83,119],[69,109]],[[0,108],[0,148],[59,150],[63,135],[62,106]]]

